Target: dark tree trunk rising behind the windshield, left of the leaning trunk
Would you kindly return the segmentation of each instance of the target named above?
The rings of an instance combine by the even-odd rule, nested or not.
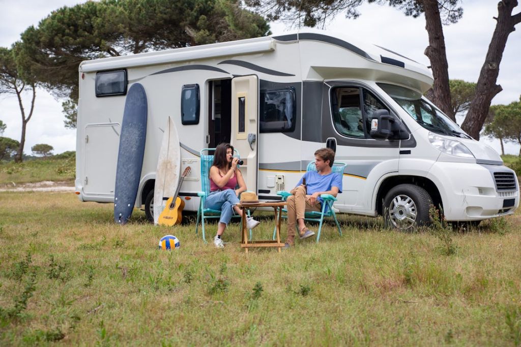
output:
[[[429,46],[425,49],[425,55],[430,60],[434,77],[434,84],[427,92],[427,97],[455,122],[449,87],[449,63],[447,62],[438,1],[423,0],[421,2],[425,10],[425,29],[429,34]]]

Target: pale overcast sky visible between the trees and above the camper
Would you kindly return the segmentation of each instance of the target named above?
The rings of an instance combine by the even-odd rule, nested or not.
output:
[[[19,40],[20,33],[30,25],[35,27],[52,10],[83,3],[79,0],[0,0],[0,46],[10,47]],[[463,18],[456,24],[444,27],[450,79],[476,82],[485,60],[490,38],[495,28],[497,1],[473,0],[463,3]],[[514,13],[521,6],[514,9]],[[428,45],[425,19],[405,17],[389,6],[366,4],[359,7],[362,16],[356,20],[338,17],[327,30],[345,32],[358,40],[374,43],[398,52],[424,65],[430,65],[424,55]],[[281,34],[288,30],[281,23],[272,24],[271,31]],[[521,24],[510,34],[500,65],[498,83],[503,87],[492,104],[510,104],[521,95]],[[26,111],[30,109],[30,97],[24,98]],[[14,96],[0,95],[0,120],[7,124],[4,136],[19,140],[21,116]],[[33,118],[29,121],[24,152],[30,154],[31,146],[38,143],[54,147],[54,153],[76,149],[76,130],[64,127],[61,101],[55,100],[43,89],[38,89]],[[461,123],[461,122],[460,122]],[[499,142],[482,141],[500,152]],[[506,152],[519,153],[519,145],[508,144]]]

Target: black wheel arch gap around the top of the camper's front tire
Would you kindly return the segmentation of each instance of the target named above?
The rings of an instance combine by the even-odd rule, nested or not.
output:
[[[400,175],[387,177],[380,184],[376,195],[376,212],[378,215],[383,214],[383,199],[389,190],[400,184],[414,184],[424,188],[429,193],[434,205],[443,210],[443,201],[441,200],[440,191],[434,182],[422,176]]]

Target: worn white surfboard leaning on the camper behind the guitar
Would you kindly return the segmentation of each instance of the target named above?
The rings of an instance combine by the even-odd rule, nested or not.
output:
[[[157,225],[159,215],[165,209],[168,198],[175,194],[179,185],[180,174],[181,147],[179,146],[179,136],[172,119],[168,117],[157,160],[156,183],[154,185],[154,225]]]

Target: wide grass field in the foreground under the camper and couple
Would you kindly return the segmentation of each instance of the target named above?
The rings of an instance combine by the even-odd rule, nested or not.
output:
[[[237,224],[218,250],[193,220],[118,226],[113,204],[0,192],[0,345],[521,345],[519,213],[454,234],[340,220],[343,237],[245,254]]]

